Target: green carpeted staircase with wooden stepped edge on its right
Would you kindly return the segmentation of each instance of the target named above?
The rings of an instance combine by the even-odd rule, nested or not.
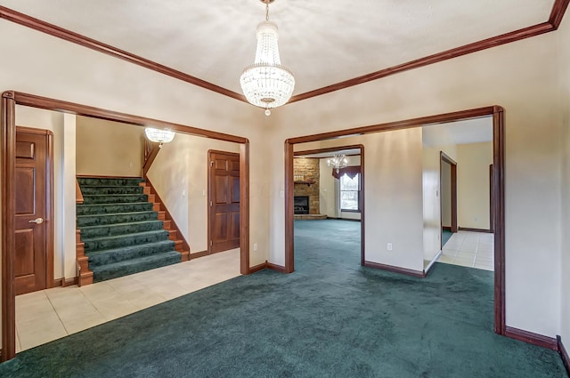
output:
[[[84,200],[77,205],[77,229],[94,282],[182,261],[176,231],[142,179],[78,177],[77,182]]]

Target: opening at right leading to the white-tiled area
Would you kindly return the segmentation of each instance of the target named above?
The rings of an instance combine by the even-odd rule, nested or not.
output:
[[[493,118],[424,126],[422,148],[425,264],[493,271]]]

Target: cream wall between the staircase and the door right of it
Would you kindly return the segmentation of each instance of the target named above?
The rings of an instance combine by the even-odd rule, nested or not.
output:
[[[178,133],[147,173],[191,253],[208,249],[208,149],[239,153],[240,145]]]

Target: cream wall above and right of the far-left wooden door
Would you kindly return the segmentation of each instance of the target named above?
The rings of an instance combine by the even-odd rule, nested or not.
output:
[[[76,276],[75,116],[18,106],[16,125],[53,133],[53,278],[73,278]]]

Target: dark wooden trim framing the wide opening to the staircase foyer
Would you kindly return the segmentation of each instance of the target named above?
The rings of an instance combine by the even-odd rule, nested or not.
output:
[[[218,141],[240,143],[240,273],[249,274],[249,141],[247,138],[226,133],[217,133],[197,127],[179,125],[158,119],[139,117],[117,111],[94,108],[68,101],[59,101],[34,94],[8,91],[2,94],[0,117],[0,201],[2,203],[2,355],[1,361],[16,355],[15,340],[15,295],[14,295],[14,247],[15,247],[15,145],[16,105],[71,113],[77,116],[95,117],[131,125],[155,125],[169,128],[177,133],[211,138]],[[12,251],[12,253],[9,253]]]

